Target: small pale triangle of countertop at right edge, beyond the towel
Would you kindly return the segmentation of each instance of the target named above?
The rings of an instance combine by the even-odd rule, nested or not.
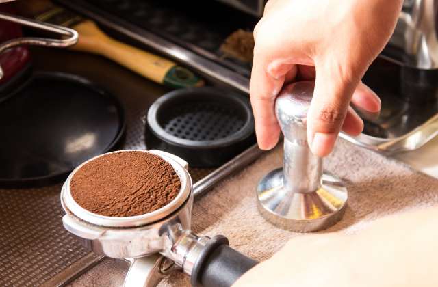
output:
[[[435,139],[417,150],[402,152],[394,157],[411,165],[420,172],[438,178],[438,137],[435,137]]]

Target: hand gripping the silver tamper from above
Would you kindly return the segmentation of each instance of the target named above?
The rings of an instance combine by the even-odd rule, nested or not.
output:
[[[402,0],[270,0],[254,30],[255,49],[250,98],[259,147],[273,148],[280,128],[274,102],[281,87],[315,79],[307,115],[312,152],[326,156],[342,129],[363,130],[351,109],[377,113],[378,96],[361,83],[381,52],[402,7]]]

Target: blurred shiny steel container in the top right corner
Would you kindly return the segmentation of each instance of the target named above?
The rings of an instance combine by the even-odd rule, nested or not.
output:
[[[438,68],[436,0],[404,0],[390,44],[407,57],[403,64],[420,69]]]

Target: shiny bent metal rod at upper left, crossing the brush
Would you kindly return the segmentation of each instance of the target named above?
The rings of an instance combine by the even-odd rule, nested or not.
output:
[[[0,19],[14,22],[19,25],[33,27],[35,29],[42,29],[44,31],[49,31],[51,33],[56,33],[58,35],[65,37],[61,39],[37,38],[37,37],[21,37],[21,38],[11,39],[6,42],[3,42],[3,44],[0,44],[0,54],[3,53],[3,51],[5,50],[13,48],[14,46],[36,45],[36,46],[64,48],[76,44],[78,40],[77,31],[70,28],[44,23],[38,20],[29,20],[27,18],[23,18],[16,15],[10,15],[3,12],[0,12]],[[3,69],[0,66],[0,79],[2,77],[3,77]]]

